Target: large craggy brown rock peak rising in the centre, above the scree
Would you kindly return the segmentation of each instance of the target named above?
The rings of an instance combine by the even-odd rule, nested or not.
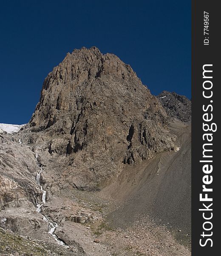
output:
[[[175,151],[166,119],[159,101],[129,65],[92,47],[68,53],[48,74],[22,133],[23,140],[51,157],[65,156],[61,169],[69,174],[68,182],[86,187],[124,164]]]

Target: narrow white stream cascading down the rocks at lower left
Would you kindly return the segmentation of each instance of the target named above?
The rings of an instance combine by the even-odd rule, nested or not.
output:
[[[40,177],[41,177],[41,173],[43,171],[42,169],[42,165],[40,164],[39,160],[38,160],[38,154],[35,153],[35,159],[37,162],[37,174],[36,174],[36,183],[38,184],[38,186],[40,186]],[[42,191],[42,204],[38,204],[37,203],[37,199],[36,199],[36,203],[37,203],[37,208],[36,211],[40,212],[41,211],[41,207],[43,206],[43,204],[46,203],[46,191],[43,190],[42,186],[40,186],[40,189]],[[55,239],[55,241],[57,241],[57,243],[59,245],[66,245],[63,241],[59,240],[58,237],[54,234],[54,231],[56,230],[56,228],[58,227],[58,224],[56,222],[51,222],[47,217],[45,217],[45,215],[43,215],[43,220],[48,222],[48,226],[49,226],[49,231],[48,233],[53,236],[53,238]]]

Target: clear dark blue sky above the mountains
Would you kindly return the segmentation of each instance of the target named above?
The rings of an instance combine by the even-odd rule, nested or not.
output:
[[[0,31],[0,123],[28,122],[44,78],[83,46],[116,54],[154,95],[190,98],[190,0],[1,1]]]

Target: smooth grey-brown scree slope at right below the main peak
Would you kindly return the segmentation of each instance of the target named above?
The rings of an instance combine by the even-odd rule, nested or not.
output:
[[[180,131],[180,127],[183,127]],[[180,150],[158,154],[148,163],[127,166],[114,185],[105,190],[118,205],[108,215],[112,227],[125,228],[148,217],[167,227],[182,244],[191,241],[191,137],[190,126],[179,122],[171,129]]]

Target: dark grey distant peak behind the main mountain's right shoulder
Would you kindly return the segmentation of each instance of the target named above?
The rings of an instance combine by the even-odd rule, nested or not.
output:
[[[157,98],[169,116],[182,122],[191,121],[191,101],[186,96],[163,91]]]

